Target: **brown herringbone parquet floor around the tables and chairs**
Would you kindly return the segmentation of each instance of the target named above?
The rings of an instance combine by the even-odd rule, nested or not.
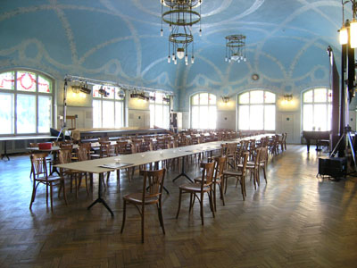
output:
[[[226,205],[218,203],[216,218],[209,206],[201,225],[199,206],[188,214],[185,197],[179,219],[178,186],[184,178],[169,172],[163,215],[166,235],[155,207],[146,210],[145,244],[140,241],[137,210],[129,206],[126,228],[120,234],[122,199],[141,187],[138,176],[121,188],[113,174],[104,197],[114,211],[102,205],[87,211],[97,193],[79,198],[68,193],[64,205],[54,193],[54,213],[46,208],[46,193],[39,188],[29,211],[31,181],[29,156],[0,161],[0,266],[1,267],[356,267],[357,180],[315,178],[318,155],[303,146],[288,146],[269,165],[268,184],[254,190],[247,178],[247,198],[230,180]],[[189,172],[199,172],[194,167]]]

